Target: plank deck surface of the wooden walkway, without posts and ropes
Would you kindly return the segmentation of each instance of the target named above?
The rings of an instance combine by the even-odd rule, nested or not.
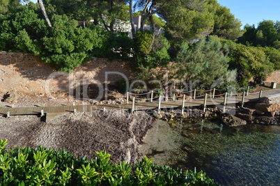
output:
[[[278,90],[270,90],[263,91],[263,96],[273,95],[280,93],[280,89]],[[253,102],[259,99],[259,93],[249,93],[244,99],[244,102]],[[186,100],[185,107],[199,107],[203,104],[203,99],[196,100]],[[242,101],[242,96],[233,96],[228,97],[226,103],[227,104],[235,104]],[[207,105],[220,105],[223,104],[224,98],[208,98]],[[182,106],[182,100],[178,101],[169,101],[162,102],[162,109],[171,109],[178,108]],[[157,109],[158,102],[136,102],[134,110],[148,110],[148,109]],[[123,110],[128,111],[132,109],[132,104],[102,104],[102,105],[68,105],[68,106],[47,106],[47,107],[3,107],[0,108],[0,116],[6,116],[7,112],[10,111],[10,116],[15,115],[38,115],[41,113],[43,109],[44,113],[69,113],[76,111],[94,111],[94,110]]]

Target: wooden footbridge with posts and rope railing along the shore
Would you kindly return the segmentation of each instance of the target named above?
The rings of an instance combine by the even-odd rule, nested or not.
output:
[[[212,91],[212,92],[211,92]],[[190,92],[187,92],[190,93]],[[153,109],[171,109],[186,107],[203,107],[204,110],[208,106],[216,105],[218,107],[226,107],[226,104],[244,104],[244,102],[255,102],[260,98],[268,95],[280,93],[278,90],[260,91],[257,93],[241,93],[231,95],[231,93],[224,93],[215,95],[215,89],[208,91],[204,95],[197,96],[195,91],[192,94],[181,95],[180,97],[173,96],[172,98],[139,98],[139,95],[127,93],[126,104],[84,104],[84,105],[67,105],[67,106],[34,106],[34,107],[0,107],[0,116],[16,116],[16,115],[40,115],[45,114],[59,115],[62,113],[71,113],[76,111],[95,111],[95,110],[122,110],[122,111],[138,111],[138,110],[153,110]],[[148,93],[147,93],[148,94]],[[192,96],[191,96],[192,95]],[[137,98],[138,96],[138,98]],[[132,98],[132,102],[128,102],[128,98]],[[166,101],[164,101],[164,99]]]

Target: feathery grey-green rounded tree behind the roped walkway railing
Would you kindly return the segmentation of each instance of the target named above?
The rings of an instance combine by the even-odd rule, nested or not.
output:
[[[182,43],[176,59],[175,76],[186,82],[197,81],[195,86],[208,88],[216,79],[228,72],[226,47],[215,36],[192,44]]]

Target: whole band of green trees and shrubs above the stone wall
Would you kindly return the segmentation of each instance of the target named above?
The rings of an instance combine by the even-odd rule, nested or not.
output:
[[[246,86],[252,77],[261,84],[280,69],[279,22],[263,21],[257,28],[246,25],[241,30],[240,20],[217,0],[45,0],[44,4],[48,16],[38,3],[0,1],[0,50],[31,52],[65,72],[93,56],[125,59],[144,80],[164,81],[163,75],[151,71],[173,61],[178,68],[173,77],[198,80],[196,86],[207,89],[218,79],[224,81],[229,72],[236,73],[236,86]],[[129,22],[132,13],[141,15],[141,28],[129,38],[118,24]]]

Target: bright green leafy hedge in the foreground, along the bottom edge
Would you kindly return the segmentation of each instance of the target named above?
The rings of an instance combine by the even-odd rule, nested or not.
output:
[[[157,166],[147,157],[132,169],[127,162],[111,162],[105,151],[88,160],[75,158],[63,149],[6,150],[6,144],[0,139],[1,185],[217,185],[202,171],[183,173],[169,166]]]

